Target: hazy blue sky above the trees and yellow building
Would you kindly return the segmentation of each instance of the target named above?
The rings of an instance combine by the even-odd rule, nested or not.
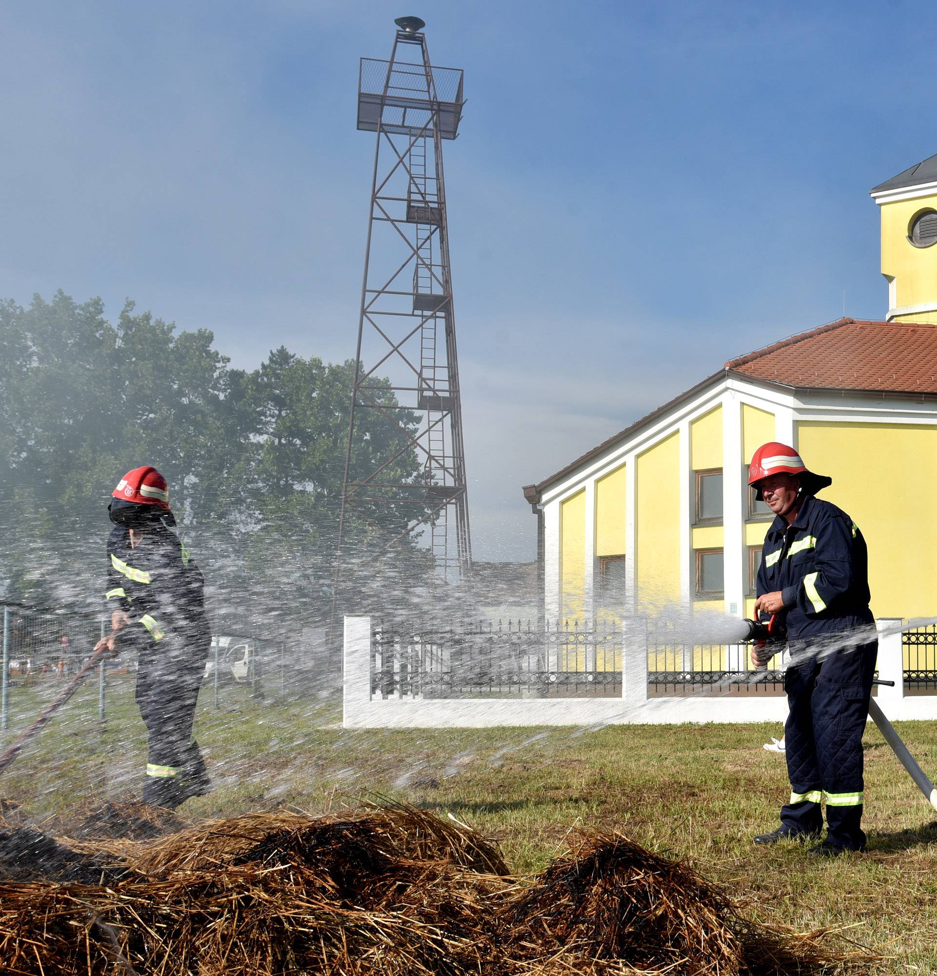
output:
[[[937,152],[937,14],[902,0],[7,0],[0,296],[131,297],[243,367],[351,356],[357,61],[401,14],[466,71],[445,149],[477,557],[531,558],[520,485],[730,356],[843,292],[884,314],[868,190]]]

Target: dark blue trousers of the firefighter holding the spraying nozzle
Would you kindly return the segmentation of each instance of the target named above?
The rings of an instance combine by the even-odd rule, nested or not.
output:
[[[792,643],[795,664],[784,679],[791,710],[784,730],[791,802],[781,808],[781,823],[797,833],[819,834],[824,798],[827,840],[850,850],[866,842],[860,826],[862,735],[877,651],[873,640],[796,664],[804,650]]]

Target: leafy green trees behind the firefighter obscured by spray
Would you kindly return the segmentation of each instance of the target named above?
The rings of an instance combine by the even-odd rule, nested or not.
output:
[[[232,369],[210,331],[177,331],[130,301],[113,324],[100,299],[77,304],[61,291],[28,307],[0,302],[0,588],[29,602],[100,597],[110,492],[125,471],[152,464],[183,534],[214,565],[217,600],[321,607],[354,365],[280,346],[253,371]],[[404,429],[362,411],[351,477],[389,462],[388,480],[419,483],[406,446],[417,417],[389,393],[384,403]],[[368,515],[391,531],[405,524],[392,509]],[[375,543],[354,517],[346,538]],[[409,556],[422,565],[416,549]]]

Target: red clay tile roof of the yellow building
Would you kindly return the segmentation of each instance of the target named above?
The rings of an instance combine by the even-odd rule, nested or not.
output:
[[[937,325],[841,318],[725,368],[784,386],[937,393]]]

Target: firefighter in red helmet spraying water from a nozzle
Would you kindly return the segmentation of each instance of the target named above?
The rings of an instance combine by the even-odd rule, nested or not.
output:
[[[774,442],[758,448],[749,468],[749,484],[776,516],[761,550],[755,610],[787,630],[791,652],[784,682],[791,800],[781,826],[754,842],[819,836],[825,800],[827,835],[809,850],[821,857],[866,846],[862,735],[878,650],[865,540],[844,511],[815,497],[832,481]],[[755,664],[779,649],[757,648]]]

